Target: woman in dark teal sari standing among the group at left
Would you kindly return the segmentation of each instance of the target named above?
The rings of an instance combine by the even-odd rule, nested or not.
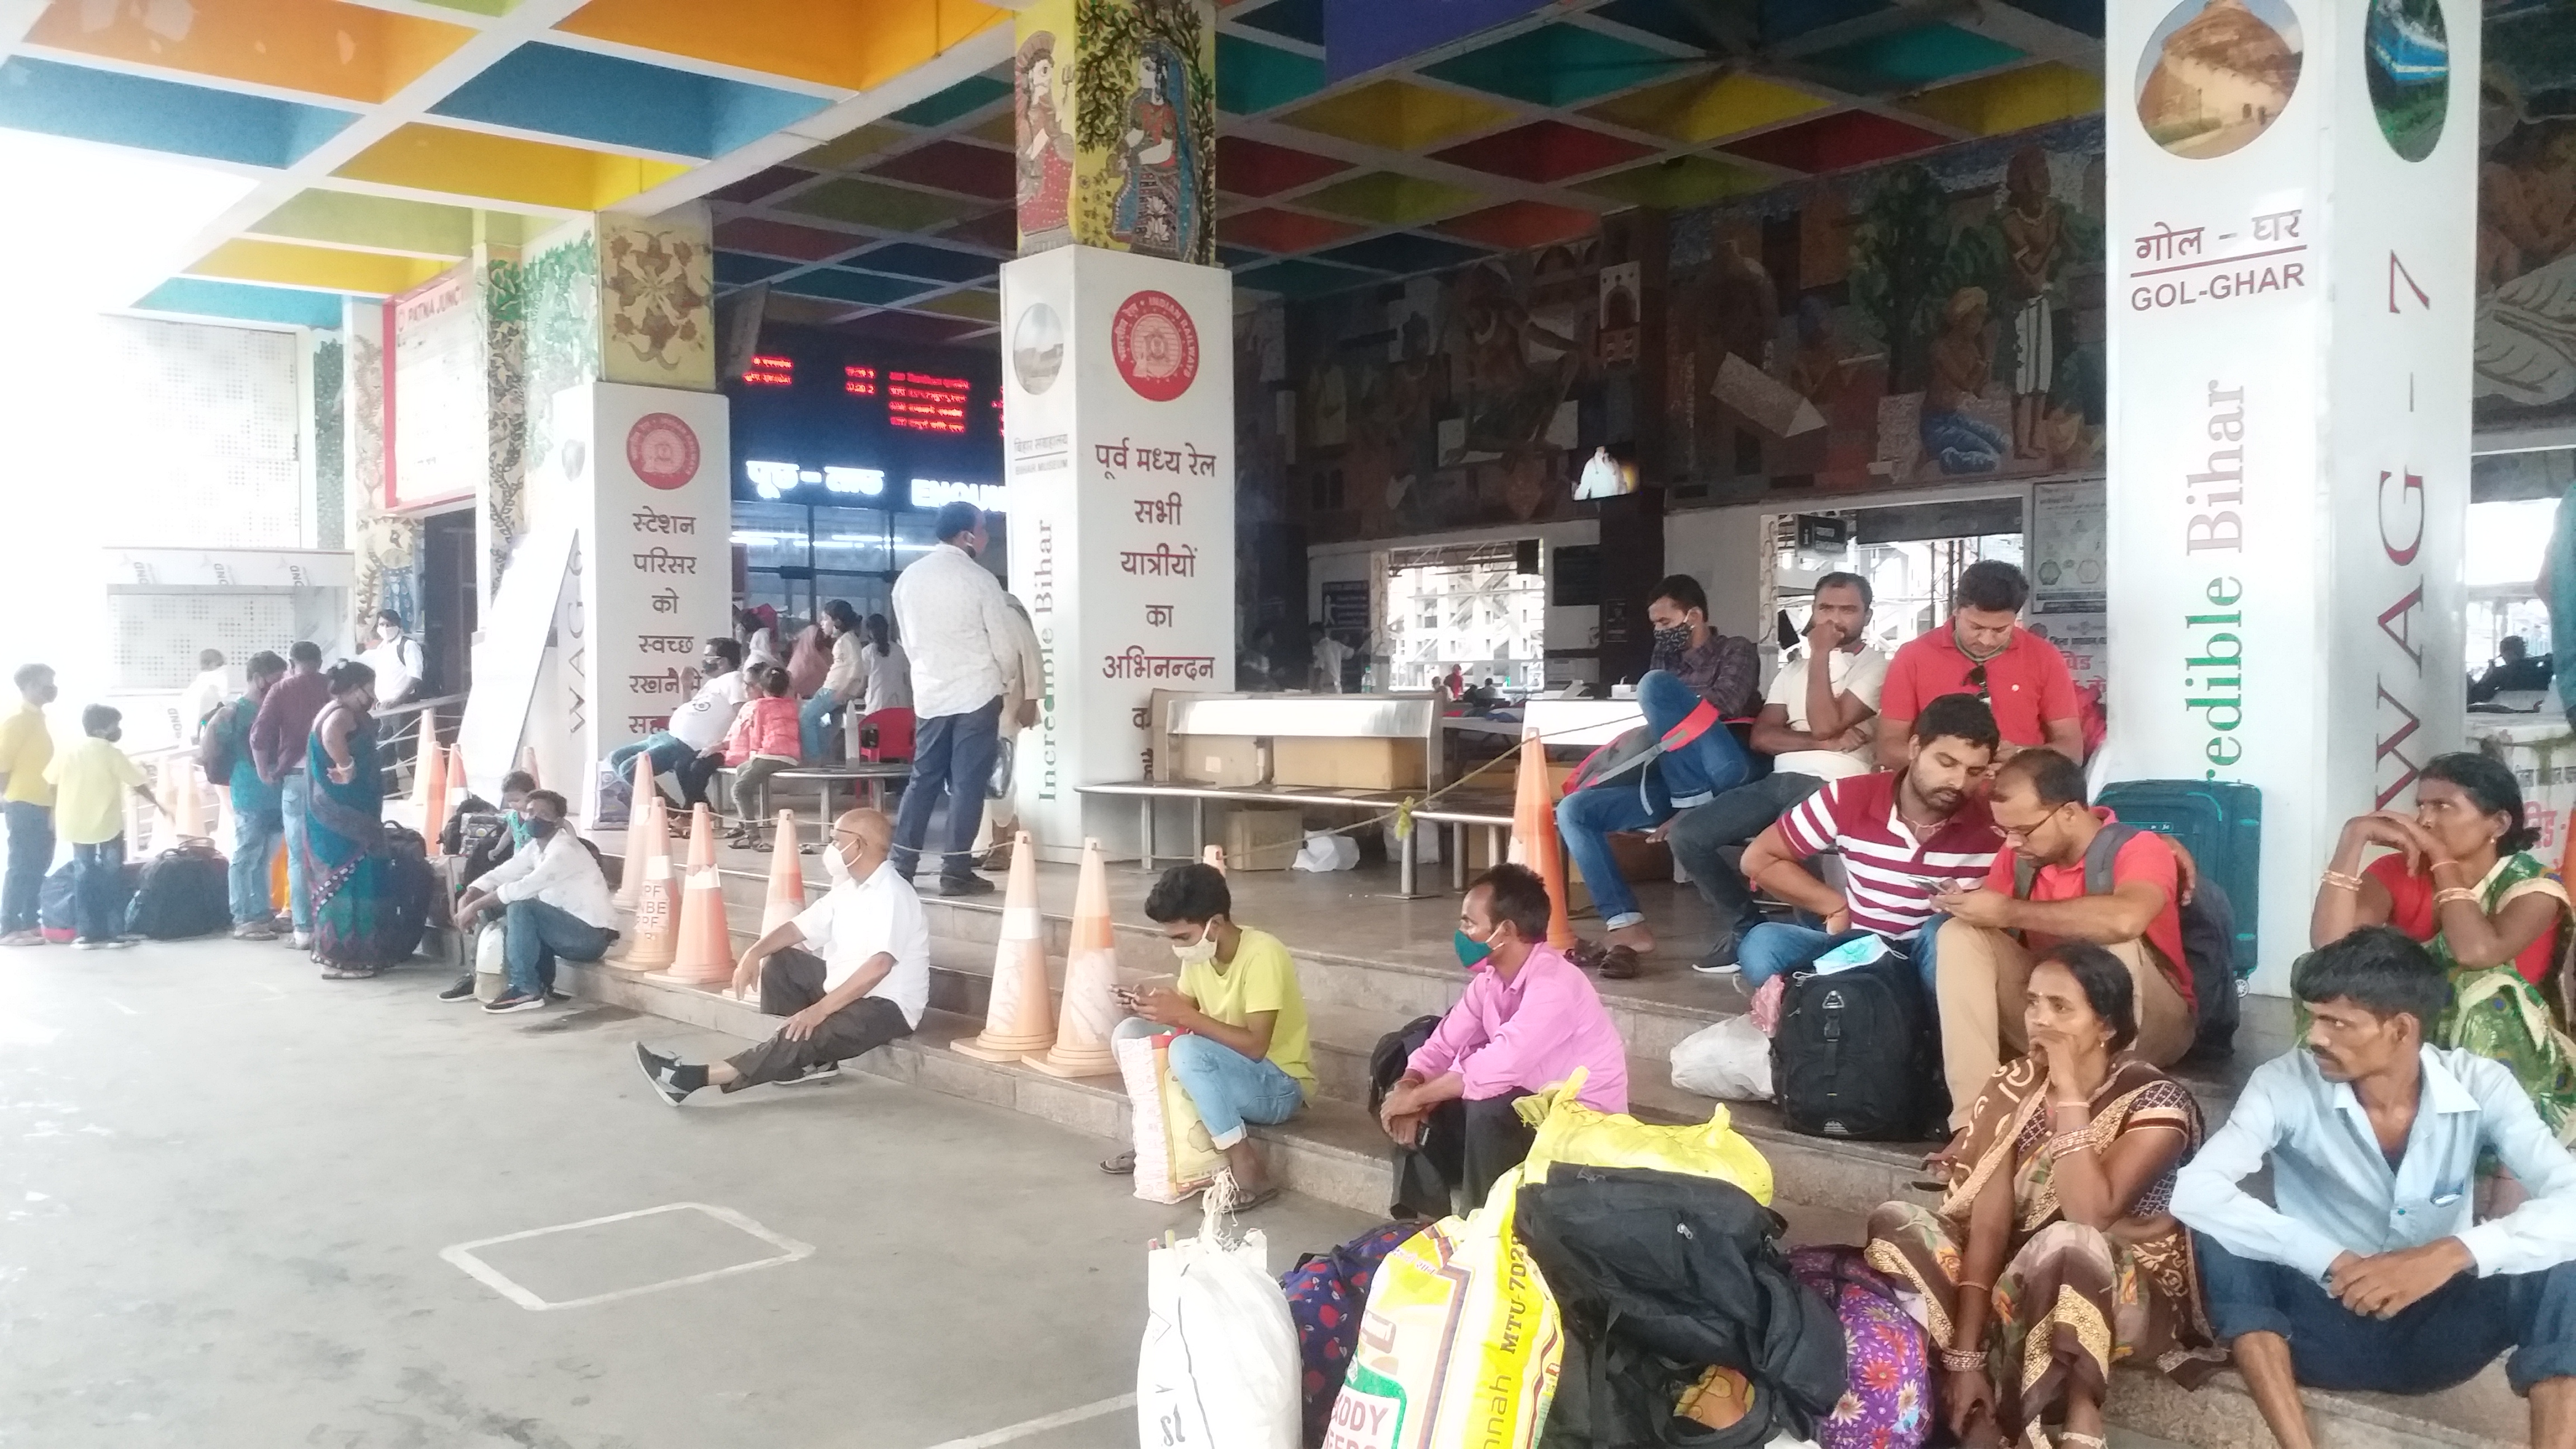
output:
[[[330,668],[330,704],[304,743],[312,804],[304,817],[304,879],[314,892],[314,959],[325,980],[361,980],[392,967],[394,853],[384,841],[384,768],[376,753],[376,670]]]

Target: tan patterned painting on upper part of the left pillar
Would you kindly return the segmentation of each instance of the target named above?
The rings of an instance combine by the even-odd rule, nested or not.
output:
[[[716,389],[716,248],[703,206],[600,217],[600,361],[608,382]]]

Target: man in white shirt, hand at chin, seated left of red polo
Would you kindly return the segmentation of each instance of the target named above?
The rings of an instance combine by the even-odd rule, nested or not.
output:
[[[1736,941],[1762,923],[1752,887],[1723,851],[1749,843],[1826,781],[1878,768],[1878,730],[1870,717],[1878,714],[1878,691],[1888,681],[1888,655],[1865,645],[1868,629],[1870,580],[1857,572],[1819,578],[1806,619],[1806,652],[1780,665],[1754,719],[1752,745],[1757,755],[1772,758],[1772,773],[1721,792],[1664,828],[1672,859],[1718,915],[1718,933],[1692,969],[1734,972]],[[1829,665],[1816,670],[1814,660]]]

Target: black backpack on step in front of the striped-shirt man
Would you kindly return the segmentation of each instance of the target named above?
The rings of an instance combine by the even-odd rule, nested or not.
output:
[[[1772,1034],[1772,1096],[1788,1129],[1808,1137],[1919,1142],[1947,1122],[1950,1088],[1914,962],[1891,954],[1793,975]]]

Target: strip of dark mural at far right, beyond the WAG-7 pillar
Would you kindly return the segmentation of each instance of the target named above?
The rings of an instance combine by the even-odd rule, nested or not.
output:
[[[2478,428],[2576,420],[2576,8],[2488,0],[2478,90]]]

